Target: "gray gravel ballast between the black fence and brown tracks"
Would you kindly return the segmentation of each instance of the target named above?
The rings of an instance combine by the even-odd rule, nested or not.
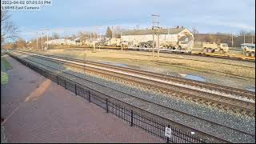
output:
[[[59,70],[65,70],[66,68],[60,64],[57,64],[55,62],[46,62],[46,60],[38,59],[38,58],[31,58],[31,60],[36,60],[37,62],[43,62],[44,64],[47,64],[47,66],[54,66],[55,68],[58,68]],[[37,66],[39,66],[38,63],[35,63]],[[49,70],[49,67],[42,66]],[[222,114],[214,109],[209,109],[206,107],[194,105],[189,102],[181,102],[178,100],[175,100],[170,97],[166,97],[163,94],[153,94],[147,91],[138,90],[136,88],[132,88],[129,86],[124,86],[119,83],[115,82],[107,82],[106,80],[103,80],[102,78],[95,78],[90,75],[84,75],[84,74],[78,74],[76,72],[67,70],[70,74],[76,74],[81,77],[86,78],[89,81],[97,82],[103,86],[111,87],[114,90],[110,90],[103,86],[98,86],[95,83],[91,82],[83,82],[84,85],[98,91],[104,91],[105,94],[110,95],[112,97],[118,98],[122,100],[123,102],[129,102],[130,104],[134,106],[138,106],[144,110],[150,111],[151,113],[161,115],[165,118],[169,118],[171,120],[174,120],[175,122],[183,123],[187,126],[194,127],[197,130],[207,131],[209,134],[218,135],[221,138],[225,138],[230,140],[230,142],[254,142],[255,138],[250,135],[244,135],[241,133],[238,133],[237,131],[230,130],[223,126],[210,126],[209,122],[202,122],[198,121],[197,118],[193,118],[191,116],[180,114],[178,112],[175,112],[174,110],[179,110],[186,112],[188,114],[193,114],[195,116],[198,116],[200,118],[205,118],[208,120],[211,120],[214,122],[218,122],[225,126],[233,127],[234,129],[246,131],[247,133],[254,134],[254,127],[255,122],[253,118],[240,118],[236,117],[230,114]],[[67,74],[63,74],[63,76],[66,76]],[[71,77],[71,76],[69,76]],[[82,80],[77,79],[79,82],[82,82]],[[117,92],[115,90],[122,91]],[[124,94],[126,93],[126,94]],[[146,100],[149,100],[150,102],[158,103],[162,106],[170,107],[174,110],[169,109],[162,109],[161,106],[156,106],[152,103],[148,104],[142,104],[139,102],[136,98],[127,98],[127,94],[132,94],[135,97],[143,98]]]

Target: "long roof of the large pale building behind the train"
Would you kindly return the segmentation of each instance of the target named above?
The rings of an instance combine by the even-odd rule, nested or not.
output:
[[[185,30],[186,28],[170,28],[170,29],[159,29],[160,34],[178,34]],[[122,35],[145,35],[145,34],[153,34],[152,29],[144,29],[144,30],[127,30],[122,32]]]

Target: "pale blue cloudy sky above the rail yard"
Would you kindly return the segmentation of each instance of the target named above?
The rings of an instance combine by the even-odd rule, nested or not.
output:
[[[159,14],[159,26],[185,26],[199,33],[255,31],[255,0],[51,0],[39,11],[11,11],[20,36],[36,37],[41,28],[49,34],[77,34],[107,26],[123,29],[150,28],[151,14]]]

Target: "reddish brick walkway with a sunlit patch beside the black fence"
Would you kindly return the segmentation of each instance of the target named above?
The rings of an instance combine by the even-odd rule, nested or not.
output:
[[[1,86],[8,142],[161,142],[105,110],[6,58],[10,82]]]

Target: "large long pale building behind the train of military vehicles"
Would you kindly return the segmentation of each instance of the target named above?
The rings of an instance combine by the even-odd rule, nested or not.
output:
[[[184,27],[176,27],[170,29],[158,29],[155,33],[159,34],[159,43],[162,42],[178,42],[186,41],[194,43],[194,36],[190,30]],[[145,30],[127,30],[122,33],[122,41],[127,41],[129,46],[138,46],[139,42],[153,41],[154,31],[152,29]],[[154,41],[157,42],[157,35],[154,35]]]

